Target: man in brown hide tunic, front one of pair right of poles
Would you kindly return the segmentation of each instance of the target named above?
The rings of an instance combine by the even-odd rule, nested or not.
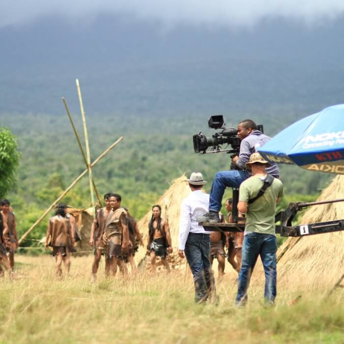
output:
[[[105,255],[108,264],[105,266],[105,273],[110,272],[115,276],[117,263],[123,274],[126,274],[126,266],[123,260],[119,259],[128,253],[129,233],[128,215],[124,208],[120,206],[122,198],[118,194],[111,194],[110,204],[112,210],[107,218],[103,240],[105,243]]]

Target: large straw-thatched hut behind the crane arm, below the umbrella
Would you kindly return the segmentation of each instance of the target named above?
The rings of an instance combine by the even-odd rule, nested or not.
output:
[[[336,176],[317,201],[344,198],[344,176]],[[300,224],[344,219],[344,202],[311,206]],[[278,284],[291,289],[333,287],[344,273],[344,231],[289,238],[278,254]]]

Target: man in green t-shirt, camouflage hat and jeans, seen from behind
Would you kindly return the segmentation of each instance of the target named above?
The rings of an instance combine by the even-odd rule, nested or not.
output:
[[[252,176],[242,182],[239,189],[238,211],[242,214],[246,213],[246,225],[236,306],[247,301],[247,288],[259,255],[265,272],[264,299],[273,304],[276,297],[275,212],[276,204],[283,196],[282,182],[273,178],[265,192],[258,199],[250,202],[258,196],[267,177],[265,168],[268,166],[269,163],[259,153],[253,153],[246,164],[248,170],[252,169]]]

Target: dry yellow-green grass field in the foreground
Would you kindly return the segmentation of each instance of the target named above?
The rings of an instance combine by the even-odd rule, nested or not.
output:
[[[248,306],[235,309],[230,271],[217,283],[220,305],[201,306],[184,271],[106,280],[101,265],[91,285],[92,257],[72,258],[62,281],[52,257],[17,261],[16,280],[0,282],[0,343],[344,343],[343,289],[330,298],[300,290],[289,306],[297,294],[279,286],[276,306],[265,308],[253,281]]]

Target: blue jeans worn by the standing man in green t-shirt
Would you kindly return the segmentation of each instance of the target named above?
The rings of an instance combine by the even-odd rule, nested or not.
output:
[[[277,294],[276,252],[276,236],[256,232],[245,235],[235,305],[244,304],[247,301],[247,288],[249,287],[250,278],[259,255],[265,272],[264,299],[267,302],[274,302]]]

